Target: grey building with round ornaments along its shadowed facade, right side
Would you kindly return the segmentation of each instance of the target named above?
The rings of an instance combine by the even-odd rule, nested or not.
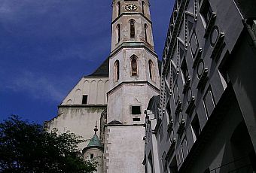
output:
[[[177,0],[146,114],[146,172],[256,172],[256,2]]]

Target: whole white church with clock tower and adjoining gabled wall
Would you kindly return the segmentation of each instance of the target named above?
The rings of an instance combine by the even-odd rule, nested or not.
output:
[[[102,156],[97,172],[145,172],[144,110],[160,93],[149,7],[148,0],[113,0],[110,56],[78,82],[57,117],[44,124],[91,138],[79,147],[85,159]]]

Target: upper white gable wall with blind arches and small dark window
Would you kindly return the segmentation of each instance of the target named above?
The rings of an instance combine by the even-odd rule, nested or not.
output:
[[[88,105],[105,105],[107,92],[108,77],[83,77],[61,105],[81,105],[83,95],[88,95]]]

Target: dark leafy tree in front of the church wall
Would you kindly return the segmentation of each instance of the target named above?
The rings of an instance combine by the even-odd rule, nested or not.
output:
[[[11,116],[0,123],[0,172],[93,172],[95,161],[84,161],[80,137],[58,135],[43,126]]]

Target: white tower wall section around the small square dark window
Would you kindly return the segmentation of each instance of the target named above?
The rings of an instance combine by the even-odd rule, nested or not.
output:
[[[123,124],[143,123],[145,121],[144,110],[149,100],[158,94],[146,83],[129,83],[120,86],[108,95],[108,123],[112,120],[118,120]],[[140,105],[142,114],[130,114],[130,105]],[[133,118],[141,120],[134,122]]]

